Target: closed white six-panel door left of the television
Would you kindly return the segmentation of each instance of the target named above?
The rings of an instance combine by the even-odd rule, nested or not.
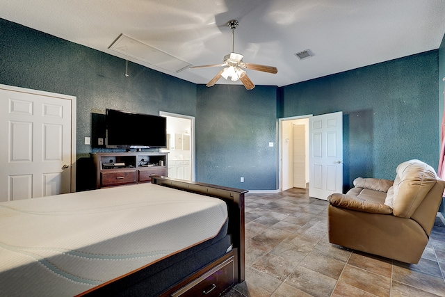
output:
[[[0,201],[75,190],[72,104],[71,96],[0,86]]]

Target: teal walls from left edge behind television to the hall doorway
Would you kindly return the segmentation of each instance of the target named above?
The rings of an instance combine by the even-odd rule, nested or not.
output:
[[[94,182],[87,157],[98,149],[84,145],[83,138],[95,134],[92,118],[106,108],[195,116],[198,182],[276,188],[275,146],[267,147],[276,145],[275,87],[207,88],[133,63],[127,78],[120,58],[5,19],[0,56],[0,83],[77,97],[77,190]]]

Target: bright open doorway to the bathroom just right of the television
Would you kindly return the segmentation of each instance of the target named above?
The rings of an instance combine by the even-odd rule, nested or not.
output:
[[[167,118],[168,177],[195,180],[195,118],[188,115],[159,112]]]

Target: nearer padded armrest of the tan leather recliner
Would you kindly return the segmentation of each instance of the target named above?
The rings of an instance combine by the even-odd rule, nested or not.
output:
[[[333,207],[369,212],[371,214],[392,214],[391,207],[385,204],[346,194],[334,193],[327,197],[327,201]]]

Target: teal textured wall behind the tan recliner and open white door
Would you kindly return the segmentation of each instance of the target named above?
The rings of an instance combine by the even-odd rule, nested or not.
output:
[[[438,51],[285,86],[280,118],[343,111],[344,184],[394,179],[396,166],[421,159],[437,169]]]

